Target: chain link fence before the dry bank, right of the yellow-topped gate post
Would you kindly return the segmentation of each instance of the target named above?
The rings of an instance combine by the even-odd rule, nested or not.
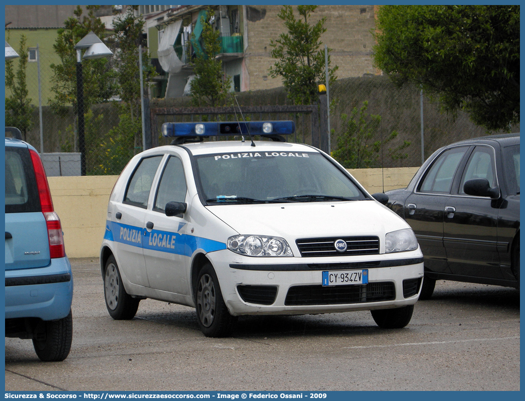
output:
[[[430,101],[415,86],[397,88],[386,76],[369,76],[338,80],[330,88],[330,98],[337,105],[331,112],[331,150],[344,142],[345,120],[354,108],[367,107],[363,118],[370,124],[372,115],[380,117],[373,135],[361,151],[368,147],[372,152],[371,163],[359,167],[416,167],[434,151],[456,141],[504,132],[488,132],[472,123],[468,115],[459,111],[456,116],[440,111],[439,104]],[[360,117],[358,116],[356,120]],[[422,129],[423,127],[423,129]],[[361,126],[362,128],[362,126]],[[392,133],[397,136],[387,141]],[[510,127],[510,132],[519,132],[519,124]],[[374,148],[381,141],[382,146]],[[355,141],[352,142],[355,145]],[[409,143],[406,147],[403,147]],[[401,149],[402,148],[402,149]],[[396,152],[396,149],[401,149]]]

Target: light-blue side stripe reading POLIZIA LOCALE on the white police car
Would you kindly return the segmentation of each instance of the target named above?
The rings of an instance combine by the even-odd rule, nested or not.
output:
[[[120,224],[115,221],[106,222],[104,238],[109,241],[117,241],[144,249],[184,256],[192,256],[197,249],[203,249],[205,252],[226,249],[224,242],[214,241],[213,239],[178,234],[171,231],[147,231],[145,228]]]

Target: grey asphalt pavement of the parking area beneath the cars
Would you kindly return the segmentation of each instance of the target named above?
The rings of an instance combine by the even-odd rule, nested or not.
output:
[[[520,296],[438,281],[411,323],[381,330],[370,312],[239,318],[205,337],[195,310],[141,301],[110,318],[98,259],[71,260],[74,336],[64,362],[7,339],[6,391],[519,391]]]

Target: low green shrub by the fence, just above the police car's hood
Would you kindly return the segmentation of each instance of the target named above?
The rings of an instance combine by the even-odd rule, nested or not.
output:
[[[381,115],[368,114],[367,108],[368,102],[364,101],[361,109],[354,107],[350,115],[341,115],[344,131],[338,136],[332,156],[345,168],[380,167],[382,147],[397,138],[398,133],[392,131],[385,139],[374,141],[381,125]],[[401,145],[387,149],[386,156],[392,160],[406,159],[408,153],[402,151],[410,144],[403,141]]]

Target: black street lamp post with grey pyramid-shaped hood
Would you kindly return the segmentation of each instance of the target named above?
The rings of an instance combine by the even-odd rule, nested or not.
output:
[[[7,44],[7,42],[6,42]],[[86,142],[84,136],[84,84],[82,77],[82,58],[95,59],[110,57],[113,55],[111,50],[104,45],[102,40],[90,31],[85,37],[75,45],[77,50],[77,127],[78,127],[78,148],[80,151],[80,173],[86,175]],[[82,49],[87,49],[82,57]],[[6,50],[7,52],[7,50]]]

